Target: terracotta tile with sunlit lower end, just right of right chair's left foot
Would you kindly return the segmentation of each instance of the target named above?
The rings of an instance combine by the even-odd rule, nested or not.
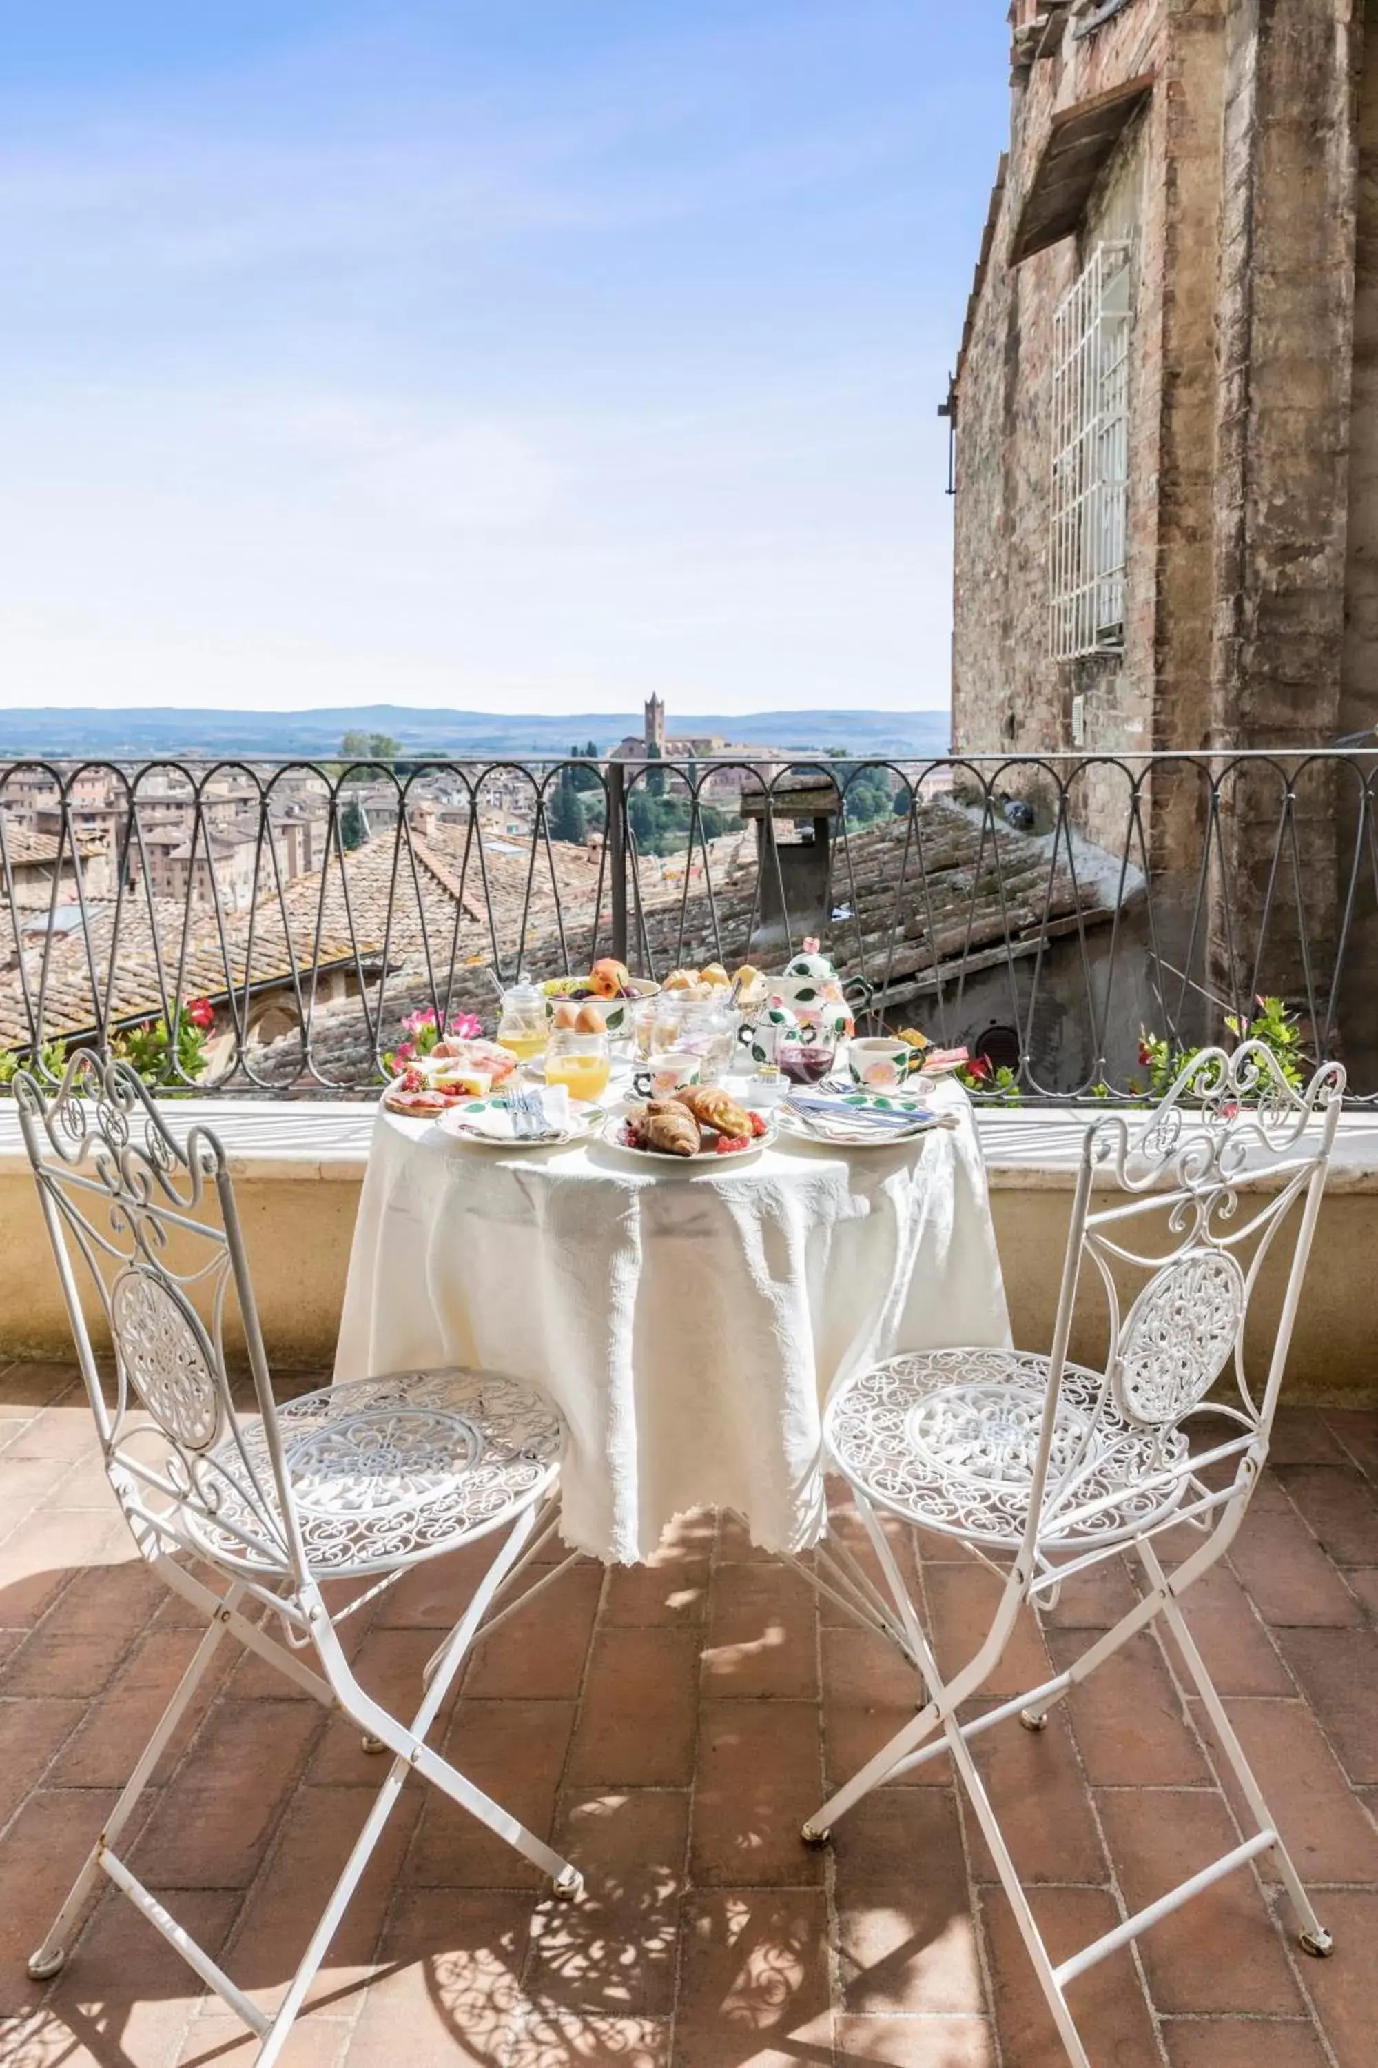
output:
[[[950,1789],[882,1789],[833,1832],[843,2006],[981,2016],[967,1859]]]

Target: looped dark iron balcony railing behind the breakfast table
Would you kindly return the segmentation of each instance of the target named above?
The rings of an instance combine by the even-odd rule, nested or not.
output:
[[[0,1077],[359,1096],[405,1022],[599,955],[781,968],[979,1096],[1134,1098],[1281,999],[1378,1096],[1378,753],[0,763]]]

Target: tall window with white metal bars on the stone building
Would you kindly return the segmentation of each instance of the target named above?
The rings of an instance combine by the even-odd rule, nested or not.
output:
[[[1097,244],[1054,314],[1050,602],[1056,660],[1124,645],[1130,246]]]

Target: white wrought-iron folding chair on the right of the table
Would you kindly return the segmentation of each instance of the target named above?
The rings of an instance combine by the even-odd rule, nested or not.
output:
[[[950,1752],[1076,2068],[1091,2064],[1066,2002],[1068,1983],[1258,1853],[1273,1851],[1277,1859],[1306,1952],[1333,1950],[1180,1603],[1235,1537],[1269,1454],[1343,1090],[1339,1065],[1320,1069],[1304,1094],[1291,1090],[1256,1042],[1233,1055],[1200,1053],[1147,1121],[1130,1127],[1124,1115],[1107,1115],[1087,1129],[1050,1357],[990,1348],[895,1357],[845,1379],[824,1412],[828,1462],[851,1487],[890,1599],[839,1545],[831,1547],[828,1578],[853,1613],[911,1659],[928,1700],[810,1818],[804,1838],[826,1843],[833,1822],[872,1789]],[[1097,1177],[1118,1193],[1093,1208]],[[1291,1228],[1291,1264],[1266,1375],[1256,1390],[1246,1375],[1244,1324],[1262,1264],[1285,1228]],[[1285,1253],[1283,1243],[1283,1261]],[[1087,1259],[1109,1305],[1103,1371],[1068,1359]],[[1126,1282],[1138,1284],[1128,1311]],[[1211,1400],[1207,1410],[1207,1394],[1227,1365],[1235,1398]],[[1188,1425],[1202,1412],[1233,1427],[1192,1450]],[[938,1671],[882,1516],[959,1539],[1004,1578],[990,1632],[950,1677]],[[1176,1524],[1194,1524],[1202,1541],[1169,1572],[1153,1539]],[[959,1708],[988,1681],[1021,1607],[1052,1605],[1072,1574],[1122,1551],[1138,1557],[1147,1580],[1138,1605],[1064,1673],[961,1723]],[[1041,1731],[1056,1702],[1157,1617],[1176,1638],[1256,1830],[1054,1965],[971,1739],[1012,1716]]]

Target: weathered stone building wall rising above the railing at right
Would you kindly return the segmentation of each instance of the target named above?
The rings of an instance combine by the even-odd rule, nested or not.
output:
[[[1364,14],[1016,0],[1010,149],[952,391],[959,749],[1289,747],[1378,718]],[[1056,412],[1085,424],[1097,401],[1060,395],[1058,308],[1097,258],[1120,306],[1091,349],[1120,325],[1126,393],[1089,465],[1126,478],[1122,610],[1058,651]],[[1074,534],[1072,560],[1093,556]]]

